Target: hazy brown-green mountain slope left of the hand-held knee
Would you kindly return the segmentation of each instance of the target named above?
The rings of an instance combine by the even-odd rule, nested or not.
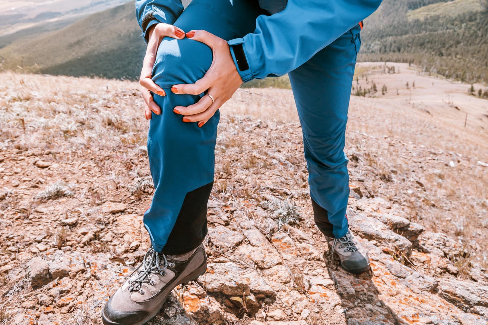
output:
[[[134,3],[90,15],[61,30],[0,49],[3,69],[55,75],[136,78],[145,45]]]

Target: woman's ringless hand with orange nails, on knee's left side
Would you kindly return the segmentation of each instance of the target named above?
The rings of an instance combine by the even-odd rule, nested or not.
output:
[[[152,81],[152,69],[154,62],[156,62],[156,53],[158,52],[159,44],[161,40],[168,36],[171,38],[184,38],[184,32],[173,25],[168,25],[165,23],[159,23],[151,26],[148,31],[149,38],[147,41],[146,55],[144,56],[144,61],[142,65],[141,78],[139,83],[142,86],[142,98],[144,98],[144,113],[146,119],[151,119],[151,112],[157,115],[161,114],[161,108],[154,102],[153,96],[150,91],[161,96],[166,96],[163,88],[158,86]]]

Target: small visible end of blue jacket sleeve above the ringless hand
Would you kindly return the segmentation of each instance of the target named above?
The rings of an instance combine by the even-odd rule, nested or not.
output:
[[[147,43],[146,31],[154,24],[174,24],[183,12],[181,0],[136,0],[136,18]]]

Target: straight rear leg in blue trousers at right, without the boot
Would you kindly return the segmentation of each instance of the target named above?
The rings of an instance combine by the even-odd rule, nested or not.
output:
[[[348,229],[347,111],[360,27],[357,25],[289,73],[302,123],[310,196],[317,227],[340,238]]]

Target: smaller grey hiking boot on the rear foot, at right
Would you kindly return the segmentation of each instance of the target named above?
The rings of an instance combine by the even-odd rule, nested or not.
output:
[[[339,256],[341,266],[351,273],[363,273],[369,270],[369,258],[361,243],[354,234],[347,230],[346,236],[341,238],[327,237],[327,245],[334,260],[334,253]]]

